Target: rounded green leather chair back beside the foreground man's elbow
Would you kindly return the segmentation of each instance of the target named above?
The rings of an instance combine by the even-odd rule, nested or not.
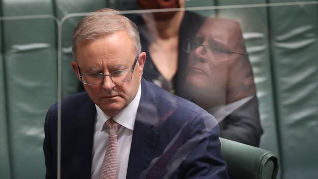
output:
[[[278,159],[270,151],[221,138],[230,179],[276,179]]]

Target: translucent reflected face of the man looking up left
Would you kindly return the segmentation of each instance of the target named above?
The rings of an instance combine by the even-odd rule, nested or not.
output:
[[[209,108],[226,103],[230,70],[241,55],[242,34],[237,22],[208,19],[196,35],[197,47],[189,55],[186,84],[196,101],[208,100]],[[239,47],[238,45],[241,45]],[[212,104],[213,103],[213,104]]]

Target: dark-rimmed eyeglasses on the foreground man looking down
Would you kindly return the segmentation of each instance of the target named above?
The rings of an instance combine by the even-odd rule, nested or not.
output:
[[[98,85],[101,84],[105,76],[109,76],[113,82],[125,82],[133,78],[133,72],[137,63],[139,55],[136,56],[133,66],[130,69],[121,69],[113,71],[110,74],[103,73],[81,73],[80,67],[77,64],[80,78],[82,78],[85,85]]]

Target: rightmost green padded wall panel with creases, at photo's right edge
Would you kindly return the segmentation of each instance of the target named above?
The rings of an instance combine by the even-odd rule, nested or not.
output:
[[[270,8],[283,179],[318,178],[317,10],[317,4]]]

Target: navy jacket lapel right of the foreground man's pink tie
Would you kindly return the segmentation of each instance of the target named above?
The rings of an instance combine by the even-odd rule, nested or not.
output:
[[[148,82],[141,80],[141,98],[136,114],[127,179],[137,179],[153,159],[159,133],[152,128],[157,122],[155,94]]]

